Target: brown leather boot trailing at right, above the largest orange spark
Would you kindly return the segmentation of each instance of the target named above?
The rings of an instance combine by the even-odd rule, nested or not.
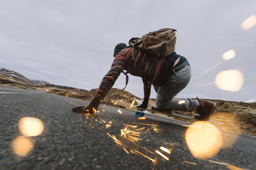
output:
[[[198,120],[209,120],[216,109],[216,103],[198,99],[198,97],[196,97],[196,100],[199,106],[195,109],[195,112],[198,113],[199,116],[195,115],[195,118]]]

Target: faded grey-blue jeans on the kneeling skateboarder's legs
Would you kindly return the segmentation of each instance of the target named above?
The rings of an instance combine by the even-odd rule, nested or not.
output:
[[[181,66],[181,65],[180,65]],[[178,67],[180,67],[178,66]],[[191,78],[191,67],[187,61],[186,66],[180,71],[170,69],[173,73],[168,76],[164,85],[154,85],[157,92],[156,106],[161,110],[193,111],[199,106],[197,100],[185,98],[174,98],[189,83]],[[180,102],[180,103],[179,103]]]

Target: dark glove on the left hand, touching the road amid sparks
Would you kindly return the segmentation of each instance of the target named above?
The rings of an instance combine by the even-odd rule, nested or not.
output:
[[[89,106],[78,106],[77,108],[73,108],[72,110],[78,113],[95,113],[100,104],[99,97],[95,96]]]

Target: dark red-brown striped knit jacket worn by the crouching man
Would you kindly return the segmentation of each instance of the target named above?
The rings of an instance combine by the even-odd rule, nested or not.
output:
[[[145,63],[145,59],[146,56],[140,50],[134,49],[132,52],[132,47],[121,50],[113,60],[111,69],[102,79],[96,96],[99,97],[99,99],[104,99],[111,87],[113,87],[122,70],[126,70],[129,74],[140,76],[142,78],[144,85],[144,99],[148,99],[150,96],[151,85],[157,85],[157,78],[161,71],[164,57],[151,60],[141,66],[141,64]]]

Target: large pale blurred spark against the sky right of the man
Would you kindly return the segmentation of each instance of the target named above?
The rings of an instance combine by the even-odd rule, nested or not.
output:
[[[236,69],[221,71],[217,74],[215,83],[221,90],[237,92],[243,87],[243,74]]]

